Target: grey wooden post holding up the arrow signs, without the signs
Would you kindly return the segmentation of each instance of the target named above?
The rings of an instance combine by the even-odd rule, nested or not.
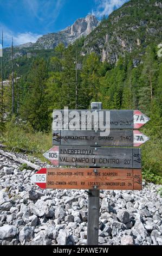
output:
[[[92,109],[102,109],[101,102],[92,102]],[[93,166],[94,168],[94,166]],[[94,168],[95,171],[95,168]],[[87,245],[99,243],[100,190],[89,190]]]

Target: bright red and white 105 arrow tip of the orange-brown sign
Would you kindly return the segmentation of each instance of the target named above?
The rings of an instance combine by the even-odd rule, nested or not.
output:
[[[47,169],[42,168],[41,170],[38,170],[38,172],[33,176],[31,176],[31,180],[40,188],[46,188],[46,174]]]

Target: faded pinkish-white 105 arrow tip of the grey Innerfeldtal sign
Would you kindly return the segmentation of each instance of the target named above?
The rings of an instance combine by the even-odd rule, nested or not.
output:
[[[59,146],[49,149],[43,156],[48,159],[54,166],[59,166]]]

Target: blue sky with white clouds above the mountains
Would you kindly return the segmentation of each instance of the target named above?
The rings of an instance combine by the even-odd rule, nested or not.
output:
[[[93,13],[101,19],[128,0],[0,0],[0,33],[4,46],[35,42],[43,34],[60,31]],[[0,40],[1,43],[1,40]]]

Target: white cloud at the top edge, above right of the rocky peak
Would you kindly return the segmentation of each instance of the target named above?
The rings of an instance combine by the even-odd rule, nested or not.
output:
[[[121,5],[128,1],[129,0],[95,0],[97,7],[95,10],[93,10],[93,13],[99,18],[103,17],[104,15],[108,16],[115,9],[120,8]]]

